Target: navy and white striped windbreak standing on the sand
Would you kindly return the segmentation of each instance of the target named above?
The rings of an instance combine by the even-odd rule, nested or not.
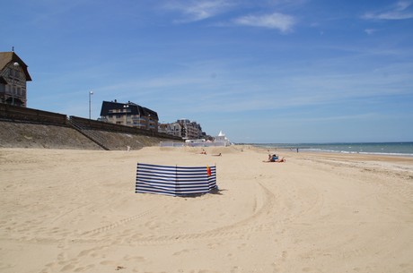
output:
[[[137,164],[136,193],[185,196],[216,189],[216,166]]]

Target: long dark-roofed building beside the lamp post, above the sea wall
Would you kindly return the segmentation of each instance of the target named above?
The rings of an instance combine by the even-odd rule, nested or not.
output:
[[[158,132],[158,114],[130,101],[127,103],[119,103],[116,99],[103,101],[100,120]]]

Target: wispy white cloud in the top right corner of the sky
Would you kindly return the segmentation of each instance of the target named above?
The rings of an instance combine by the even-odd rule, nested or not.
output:
[[[406,20],[413,18],[413,12],[408,11],[411,2],[399,1],[388,10],[382,12],[365,13],[367,20]]]

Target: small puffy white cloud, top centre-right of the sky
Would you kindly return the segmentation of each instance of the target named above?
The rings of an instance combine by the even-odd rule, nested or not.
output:
[[[293,30],[296,21],[293,16],[282,13],[272,13],[261,16],[246,15],[235,19],[234,22],[239,25],[277,29],[282,32],[288,32]]]

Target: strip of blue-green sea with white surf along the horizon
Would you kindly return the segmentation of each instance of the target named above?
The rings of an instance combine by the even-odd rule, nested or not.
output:
[[[291,149],[294,151],[298,149],[298,152],[313,151],[413,157],[413,142],[266,143],[252,145],[265,149]]]

